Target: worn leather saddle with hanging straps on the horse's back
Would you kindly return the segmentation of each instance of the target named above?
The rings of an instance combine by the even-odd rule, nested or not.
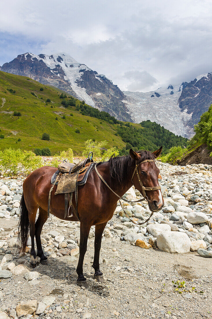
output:
[[[51,184],[53,186],[51,187],[49,191],[48,217],[50,213],[51,192],[53,190],[54,185],[57,185],[55,195],[65,194],[64,218],[72,217],[74,212],[76,217],[79,219],[79,214],[77,210],[78,186],[82,186],[87,182],[88,175],[92,167],[95,166],[95,164],[96,163],[93,161],[93,152],[90,152],[88,154],[87,159],[81,160],[76,165],[74,163],[69,163],[67,161],[63,161],[63,163],[60,163],[58,165],[58,170],[53,174],[51,178]],[[74,205],[72,203],[72,197],[74,192],[75,192],[76,208],[74,208]],[[69,201],[69,207],[68,207],[68,201]],[[71,215],[69,216],[70,208],[71,208]]]

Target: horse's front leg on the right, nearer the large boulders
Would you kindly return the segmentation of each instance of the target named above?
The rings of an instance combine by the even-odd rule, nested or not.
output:
[[[107,222],[95,226],[94,262],[92,267],[95,270],[94,278],[100,282],[104,282],[102,271],[99,269],[99,254],[102,243],[102,233],[106,225]]]

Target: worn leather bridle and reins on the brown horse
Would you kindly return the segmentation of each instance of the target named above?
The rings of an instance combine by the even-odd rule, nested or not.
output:
[[[131,220],[131,222],[132,222],[133,224],[136,224],[136,225],[145,224],[145,223],[152,217],[154,211],[152,211],[150,217],[149,217],[148,219],[146,219],[143,223],[136,223],[133,219],[131,219],[131,218],[129,217],[129,215],[127,214],[127,212],[124,210],[124,207],[123,207],[123,205],[122,205],[120,199],[123,199],[125,202],[128,202],[128,203],[138,203],[138,202],[144,201],[145,199],[149,202],[149,199],[148,199],[148,197],[147,197],[147,195],[146,195],[145,190],[148,190],[148,191],[149,191],[149,190],[161,189],[160,186],[145,187],[145,186],[142,184],[141,178],[140,178],[140,175],[139,175],[139,172],[138,172],[138,166],[139,166],[140,164],[146,163],[146,162],[155,162],[155,160],[154,160],[154,159],[145,159],[144,161],[142,161],[142,162],[140,162],[140,163],[138,163],[137,160],[136,160],[136,166],[135,166],[134,172],[133,172],[133,174],[132,174],[131,181],[132,181],[132,183],[133,183],[133,177],[134,177],[135,173],[137,173],[138,182],[139,182],[140,185],[141,185],[141,189],[142,189],[141,192],[142,192],[142,196],[143,196],[144,198],[141,198],[141,199],[139,199],[139,200],[137,200],[137,201],[134,201],[134,202],[133,202],[133,201],[130,201],[130,200],[127,200],[126,198],[120,197],[117,193],[115,193],[115,192],[110,188],[110,186],[107,184],[107,182],[105,182],[105,180],[103,179],[103,177],[99,174],[99,172],[98,172],[98,170],[97,170],[97,168],[96,168],[96,165],[95,165],[95,167],[94,167],[94,168],[95,168],[95,171],[96,171],[96,173],[97,173],[97,175],[98,175],[99,178],[102,180],[102,182],[103,182],[117,197],[119,197],[119,203],[120,203],[120,205],[121,205],[121,207],[122,207],[124,213],[126,214],[126,216]],[[133,183],[133,185],[134,185],[134,183]]]

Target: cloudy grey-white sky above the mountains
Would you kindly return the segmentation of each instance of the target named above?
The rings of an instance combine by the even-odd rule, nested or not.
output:
[[[1,1],[0,65],[62,51],[126,91],[190,81],[212,71],[212,1]]]

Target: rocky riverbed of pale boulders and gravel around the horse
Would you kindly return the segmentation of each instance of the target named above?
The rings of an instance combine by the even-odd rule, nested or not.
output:
[[[17,252],[24,178],[2,178],[0,318],[211,318],[212,167],[158,167],[165,205],[141,226],[117,206],[102,237],[104,283],[93,279],[91,228],[86,288],[76,285],[80,223],[50,215],[41,233],[47,265],[30,268],[30,238],[26,253]],[[134,201],[140,193],[130,189],[125,197]],[[146,202],[123,205],[134,221],[151,213]],[[178,280],[185,282],[182,288]]]

